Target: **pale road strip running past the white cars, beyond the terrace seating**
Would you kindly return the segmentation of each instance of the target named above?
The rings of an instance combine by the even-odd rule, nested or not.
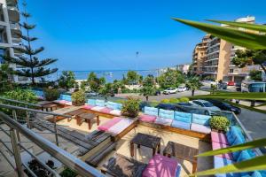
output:
[[[208,95],[208,94],[209,94],[209,92],[207,92],[207,91],[201,91],[201,90],[195,91],[195,96],[202,96],[202,95]],[[139,96],[139,94],[117,94],[115,96],[117,96],[117,97],[138,96],[139,98],[141,98],[142,100],[145,101],[145,96]],[[149,96],[149,100],[150,101],[153,101],[153,100],[160,101],[162,99],[168,99],[171,97],[179,98],[179,97],[183,97],[183,96],[192,96],[192,91],[184,91],[184,92],[179,92],[179,93],[170,94],[170,95],[161,94],[160,96]]]

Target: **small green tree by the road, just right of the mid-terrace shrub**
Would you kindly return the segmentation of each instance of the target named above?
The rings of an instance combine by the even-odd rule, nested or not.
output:
[[[153,75],[148,75],[143,81],[143,88],[140,89],[140,93],[146,97],[146,101],[149,101],[149,96],[153,96],[155,93],[155,81]]]

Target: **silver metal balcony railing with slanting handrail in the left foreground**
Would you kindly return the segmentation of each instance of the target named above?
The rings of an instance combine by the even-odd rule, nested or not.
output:
[[[11,101],[13,103],[17,104],[27,104],[24,102],[6,99],[1,97],[1,99],[5,101]],[[27,104],[31,106],[35,106],[35,104]],[[45,152],[49,153],[51,157],[58,159],[63,165],[66,165],[68,168],[73,170],[75,173],[81,175],[81,176],[104,176],[102,173],[100,173],[97,169],[94,167],[87,165],[85,162],[83,162],[81,159],[74,157],[72,154],[68,153],[66,150],[60,149],[57,145],[59,145],[58,135],[57,135],[57,126],[56,121],[54,121],[54,134],[56,138],[56,144],[50,142],[49,140],[43,138],[43,136],[36,134],[33,130],[31,130],[30,127],[30,120],[29,120],[29,112],[35,112],[35,113],[42,113],[54,116],[60,116],[60,117],[66,117],[69,118],[70,116],[54,113],[54,112],[43,112],[35,109],[29,109],[25,107],[19,107],[9,104],[0,104],[0,108],[10,109],[12,110],[13,119],[9,117],[8,115],[4,114],[4,112],[0,112],[0,120],[4,122],[5,125],[10,127],[9,130],[5,130],[3,127],[0,127],[0,130],[4,132],[5,135],[8,135],[11,138],[12,142],[12,150],[8,148],[5,143],[0,140],[4,144],[4,147],[13,155],[14,161],[16,166],[13,166],[12,163],[8,160],[8,158],[5,156],[2,150],[0,150],[0,153],[3,155],[4,158],[6,158],[7,162],[12,165],[12,167],[16,167],[16,171],[18,173],[18,176],[25,176],[25,173],[23,172],[24,169],[27,170],[28,173],[30,173],[32,176],[36,176],[36,174],[21,160],[20,156],[20,148],[22,150],[25,150],[32,158],[34,158],[36,161],[38,161],[41,165],[43,165],[50,173],[51,176],[60,176],[59,173],[57,173],[54,169],[51,169],[48,165],[43,163],[43,161],[35,156],[30,150],[27,150],[22,143],[20,142],[20,135],[24,135],[28,140],[31,142],[34,142],[38,147],[40,147]],[[25,111],[26,113],[26,119],[27,119],[27,127],[20,124],[20,122],[17,120],[16,111]]]

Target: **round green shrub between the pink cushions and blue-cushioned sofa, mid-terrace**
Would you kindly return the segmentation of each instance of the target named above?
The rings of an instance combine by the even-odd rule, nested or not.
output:
[[[139,112],[140,100],[129,96],[128,100],[122,104],[122,115],[129,116],[130,118],[136,118]]]

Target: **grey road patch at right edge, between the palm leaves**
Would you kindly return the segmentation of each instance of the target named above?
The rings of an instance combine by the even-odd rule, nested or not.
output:
[[[247,132],[252,138],[266,137],[266,114],[252,112],[241,108],[242,112],[238,115],[239,120],[246,127]]]

